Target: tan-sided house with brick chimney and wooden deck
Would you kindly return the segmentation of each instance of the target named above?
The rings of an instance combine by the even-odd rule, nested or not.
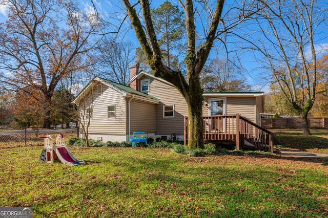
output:
[[[74,103],[78,104],[91,90],[94,96],[89,127],[91,139],[128,141],[132,132],[146,132],[146,137],[162,139],[185,140],[188,137],[185,99],[171,83],[139,72],[136,64],[130,66],[127,85],[95,77]],[[240,141],[241,137],[243,140],[238,144],[256,144],[256,140],[259,143],[264,131],[260,127],[263,92],[204,92],[203,96],[204,139]],[[241,131],[238,134],[237,120],[238,125],[244,125],[238,127]],[[248,133],[246,128],[249,128]]]

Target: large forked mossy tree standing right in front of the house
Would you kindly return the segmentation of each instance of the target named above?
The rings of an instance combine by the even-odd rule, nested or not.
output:
[[[213,43],[216,39],[222,40],[224,33],[231,30],[233,27],[240,24],[250,15],[254,14],[253,9],[260,10],[252,4],[250,7],[244,7],[244,2],[233,7],[239,11],[234,19],[230,20],[228,24],[222,20],[222,10],[224,0],[217,0],[213,3],[210,1],[192,1],[185,0],[185,3],[178,0],[183,12],[185,13],[186,25],[186,56],[185,64],[187,70],[187,79],[183,76],[180,69],[173,70],[165,65],[161,57],[161,49],[158,44],[156,32],[151,17],[150,3],[148,0],[140,0],[142,11],[142,21],[137,14],[137,10],[131,5],[130,1],[122,0],[125,5],[128,15],[130,17],[131,25],[135,30],[136,37],[139,40],[142,50],[144,51],[150,68],[156,77],[165,79],[172,83],[175,88],[185,98],[188,106],[189,116],[189,139],[188,146],[190,148],[203,147],[203,120],[202,120],[202,88],[200,84],[200,72],[212,50]],[[240,7],[236,7],[236,6]],[[233,14],[228,10],[229,14]],[[197,20],[197,23],[196,21]],[[218,30],[219,24],[222,24],[222,30]],[[196,24],[200,25],[201,31],[198,31]],[[144,29],[145,28],[145,29]],[[146,31],[145,31],[146,30]],[[196,35],[199,40],[196,40]],[[197,43],[196,43],[197,42]]]

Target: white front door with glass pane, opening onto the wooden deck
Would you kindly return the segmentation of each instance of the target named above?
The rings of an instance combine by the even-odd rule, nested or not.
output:
[[[209,116],[226,115],[226,98],[212,98],[209,99]],[[224,118],[215,118],[216,123],[205,123],[207,130],[210,132],[224,132],[226,130],[226,120]]]

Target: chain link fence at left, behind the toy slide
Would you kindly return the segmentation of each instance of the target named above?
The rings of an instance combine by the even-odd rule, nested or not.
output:
[[[0,148],[42,146],[40,136],[51,135],[55,138],[62,133],[65,138],[77,137],[76,128],[47,129],[47,128],[0,128]]]

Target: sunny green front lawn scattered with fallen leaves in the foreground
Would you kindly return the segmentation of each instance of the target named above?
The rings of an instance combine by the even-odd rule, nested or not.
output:
[[[34,217],[326,217],[328,160],[191,158],[166,148],[77,148],[85,165],[38,162],[42,147],[0,150],[0,207]]]

